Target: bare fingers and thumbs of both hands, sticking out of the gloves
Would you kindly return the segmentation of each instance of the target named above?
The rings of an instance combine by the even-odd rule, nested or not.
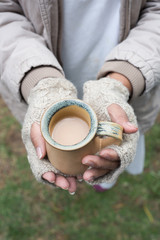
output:
[[[137,127],[131,124],[125,111],[117,104],[112,104],[108,107],[108,113],[111,121],[120,124],[124,133],[132,134],[137,131]],[[43,159],[46,155],[46,147],[44,139],[40,132],[38,123],[33,123],[31,127],[31,140],[36,149],[39,159]],[[42,160],[43,161],[43,160]],[[77,180],[92,181],[95,178],[105,175],[110,171],[116,169],[120,165],[120,159],[116,151],[113,149],[101,150],[99,156],[88,155],[82,159],[82,163],[88,167],[92,167],[85,171],[83,176],[64,177],[54,172],[46,172],[42,178],[50,183],[54,183],[57,187],[68,190],[73,194],[76,192]]]

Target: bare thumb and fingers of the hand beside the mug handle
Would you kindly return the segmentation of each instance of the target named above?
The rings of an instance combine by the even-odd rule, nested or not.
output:
[[[123,127],[123,132],[132,134],[137,132],[137,127],[131,124],[124,110],[117,104],[111,104],[108,107],[108,113],[111,121]],[[92,167],[86,170],[83,178],[85,181],[93,181],[94,179],[106,175],[120,166],[120,158],[113,149],[103,149],[99,155],[88,155],[82,159],[82,163]]]

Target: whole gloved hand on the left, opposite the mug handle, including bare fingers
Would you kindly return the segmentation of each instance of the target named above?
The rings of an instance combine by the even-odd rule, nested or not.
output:
[[[29,106],[22,128],[22,139],[27,150],[31,170],[37,181],[74,191],[76,187],[73,178],[67,178],[66,180],[63,176],[60,176],[62,174],[45,157],[45,143],[38,125],[47,107],[66,98],[77,98],[77,91],[71,82],[58,78],[41,80],[32,89],[29,96]],[[53,184],[54,182],[55,184]]]

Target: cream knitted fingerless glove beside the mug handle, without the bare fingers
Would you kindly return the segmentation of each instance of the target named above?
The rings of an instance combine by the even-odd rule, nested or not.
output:
[[[83,100],[88,103],[96,112],[98,120],[111,121],[107,107],[112,103],[118,104],[126,112],[131,123],[137,126],[136,116],[132,107],[127,103],[129,99],[128,89],[119,81],[111,78],[88,81],[84,84]],[[127,168],[133,161],[138,141],[138,132],[134,134],[123,134],[121,146],[112,145],[111,148],[120,157],[120,167],[103,177],[97,178],[90,184],[112,182]]]

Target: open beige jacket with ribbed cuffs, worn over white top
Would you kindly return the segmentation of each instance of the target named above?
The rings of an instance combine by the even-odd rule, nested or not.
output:
[[[27,104],[20,90],[27,100],[39,80],[64,76],[61,4],[61,0],[0,1],[0,94],[21,123]],[[145,132],[159,111],[160,1],[121,0],[120,15],[119,44],[106,57],[98,78],[111,71],[129,78],[132,105]]]

